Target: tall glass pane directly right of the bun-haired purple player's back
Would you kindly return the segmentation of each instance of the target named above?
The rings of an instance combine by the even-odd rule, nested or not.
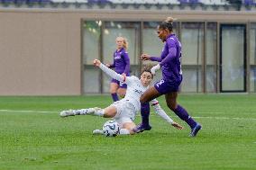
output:
[[[182,84],[182,92],[202,92],[201,72],[204,24],[201,22],[182,22],[181,44],[184,81]],[[191,69],[191,67],[193,68]]]

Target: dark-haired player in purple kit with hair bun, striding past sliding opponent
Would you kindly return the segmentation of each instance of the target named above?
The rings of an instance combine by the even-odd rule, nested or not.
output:
[[[197,132],[202,128],[201,125],[197,123],[197,121],[194,121],[194,119],[188,115],[187,111],[177,103],[178,87],[182,81],[180,64],[181,44],[172,31],[173,21],[174,19],[172,17],[168,17],[158,26],[158,36],[160,40],[165,42],[160,58],[151,57],[148,54],[142,54],[141,56],[142,60],[160,62],[160,64],[151,68],[151,73],[154,75],[157,70],[161,69],[162,79],[146,90],[146,92],[142,94],[140,101],[141,103],[148,103],[152,99],[165,94],[169,109],[175,112],[181,120],[186,121],[190,126],[191,132],[189,136],[196,137]],[[143,130],[142,125],[137,128],[139,131]]]

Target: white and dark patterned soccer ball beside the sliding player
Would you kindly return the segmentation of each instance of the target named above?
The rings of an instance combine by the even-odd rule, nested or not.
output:
[[[105,137],[115,137],[119,134],[120,127],[116,121],[106,121],[102,130]]]

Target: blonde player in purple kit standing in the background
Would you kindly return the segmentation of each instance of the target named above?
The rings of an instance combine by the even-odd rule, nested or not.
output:
[[[117,37],[115,40],[116,50],[114,51],[113,64],[106,64],[106,67],[114,67],[115,72],[123,76],[130,76],[130,58],[126,49],[128,48],[128,42],[123,37]],[[119,100],[118,95],[124,97],[126,93],[127,85],[112,79],[110,84],[110,94],[113,101]]]

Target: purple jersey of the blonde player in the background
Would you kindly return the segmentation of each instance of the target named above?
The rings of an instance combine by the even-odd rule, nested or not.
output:
[[[126,76],[130,76],[130,58],[125,49],[114,51],[114,63],[110,67],[114,67],[118,74],[125,73]]]

